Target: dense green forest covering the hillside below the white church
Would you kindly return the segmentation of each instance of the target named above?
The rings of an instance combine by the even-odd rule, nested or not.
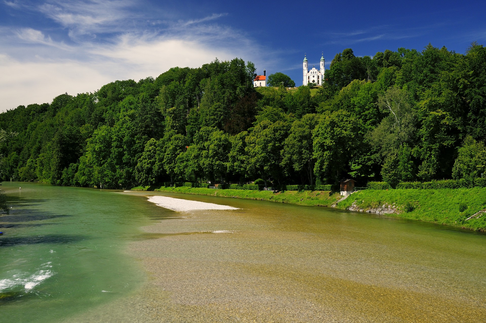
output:
[[[336,54],[322,87],[255,90],[214,60],[0,114],[0,180],[129,188],[164,181],[474,179],[486,168],[486,48]]]

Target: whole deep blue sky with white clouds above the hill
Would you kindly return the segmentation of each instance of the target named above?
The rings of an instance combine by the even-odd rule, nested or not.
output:
[[[484,1],[0,0],[0,111],[241,57],[301,85],[302,59],[352,48],[464,53],[486,45]]]

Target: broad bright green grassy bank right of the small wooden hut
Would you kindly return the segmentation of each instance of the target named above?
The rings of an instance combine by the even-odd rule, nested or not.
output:
[[[353,202],[356,202],[358,207],[364,211],[382,204],[396,203],[399,214],[392,216],[486,231],[486,215],[466,221],[469,216],[486,208],[486,188],[484,187],[364,190],[353,193],[347,199],[339,202],[337,208],[347,209]],[[463,204],[463,208],[467,207],[463,212],[460,212],[461,204]]]

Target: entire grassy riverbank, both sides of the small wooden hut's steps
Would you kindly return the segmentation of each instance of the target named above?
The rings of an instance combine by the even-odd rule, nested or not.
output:
[[[274,193],[269,191],[219,190],[185,186],[162,186],[155,188],[153,191],[216,197],[237,197],[296,205],[328,207],[333,206],[341,197],[339,193],[330,191],[284,191]],[[411,210],[407,210],[407,203]],[[460,203],[465,203],[467,206],[464,212],[459,212],[458,207]],[[353,193],[351,196],[337,203],[335,207],[353,212],[377,213],[385,216],[420,220],[473,231],[486,231],[486,216],[466,220],[469,216],[486,209],[486,188],[363,190]],[[386,212],[382,212],[383,210],[386,210]]]

